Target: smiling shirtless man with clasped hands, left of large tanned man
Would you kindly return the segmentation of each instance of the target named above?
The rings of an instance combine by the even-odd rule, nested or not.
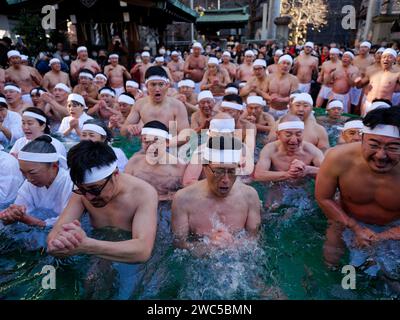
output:
[[[261,151],[254,178],[276,182],[316,177],[323,160],[322,151],[304,141],[304,122],[286,115],[278,126],[278,141],[267,144]]]

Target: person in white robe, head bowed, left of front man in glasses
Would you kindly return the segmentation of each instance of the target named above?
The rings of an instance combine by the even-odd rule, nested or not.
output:
[[[60,155],[51,140],[49,136],[41,136],[18,153],[19,167],[26,180],[18,190],[14,204],[1,214],[4,223],[52,226],[67,206],[73,184],[68,171],[60,167]],[[53,214],[41,213],[44,210]],[[33,215],[33,211],[40,215]]]

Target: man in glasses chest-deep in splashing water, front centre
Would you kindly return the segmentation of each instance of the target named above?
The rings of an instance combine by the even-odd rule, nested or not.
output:
[[[178,191],[172,202],[175,246],[203,255],[207,249],[232,247],[241,231],[248,239],[257,237],[260,200],[255,189],[237,179],[241,152],[240,140],[209,139],[204,151],[206,179]],[[217,227],[213,221],[218,221]]]

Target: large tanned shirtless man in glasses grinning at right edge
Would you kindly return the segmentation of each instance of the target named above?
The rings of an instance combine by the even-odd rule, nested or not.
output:
[[[369,276],[378,271],[391,272],[387,269],[390,265],[398,267],[399,252],[388,255],[387,248],[397,246],[400,239],[399,119],[397,107],[376,109],[363,120],[361,143],[338,146],[327,154],[315,190],[329,220],[324,246],[329,265],[339,265],[346,245],[351,258],[363,259],[351,259],[349,264],[368,262],[374,267],[369,268]],[[391,240],[396,243],[388,242]]]

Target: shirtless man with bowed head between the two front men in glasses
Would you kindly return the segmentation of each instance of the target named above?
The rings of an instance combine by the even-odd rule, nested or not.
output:
[[[146,123],[142,129],[142,150],[135,153],[125,173],[151,184],[159,201],[172,200],[182,186],[186,165],[167,152],[168,128],[159,121]]]

